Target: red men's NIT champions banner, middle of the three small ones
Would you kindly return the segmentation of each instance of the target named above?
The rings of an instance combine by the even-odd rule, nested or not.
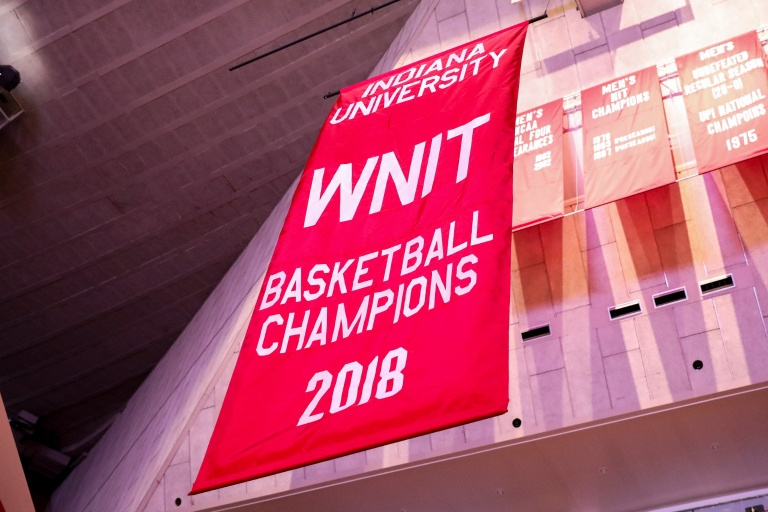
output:
[[[656,67],[581,92],[585,207],[675,181]]]

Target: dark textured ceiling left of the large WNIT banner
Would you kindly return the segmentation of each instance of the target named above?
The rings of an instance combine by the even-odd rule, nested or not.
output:
[[[126,403],[417,0],[0,0],[0,392],[58,448]]]

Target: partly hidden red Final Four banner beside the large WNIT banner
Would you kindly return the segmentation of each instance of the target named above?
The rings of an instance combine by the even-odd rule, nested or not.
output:
[[[515,120],[512,229],[563,216],[563,100]]]

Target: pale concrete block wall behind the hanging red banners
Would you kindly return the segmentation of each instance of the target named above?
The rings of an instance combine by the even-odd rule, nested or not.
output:
[[[545,3],[423,0],[374,73],[524,21],[543,12]],[[549,18],[531,27],[526,42],[520,108],[763,24],[764,0],[625,0],[587,19],[575,3],[550,0]],[[667,113],[674,115],[674,94],[669,100]],[[669,119],[681,181],[515,233],[508,414],[186,496],[284,201],[93,456],[57,491],[51,509],[223,506],[768,380],[768,158],[698,176],[678,121]],[[569,126],[579,140],[578,126]],[[577,152],[570,158],[578,160]],[[574,195],[577,208],[578,187]],[[723,273],[733,274],[736,287],[702,297],[698,281]],[[683,286],[687,301],[654,308],[654,294]],[[609,306],[634,299],[641,314],[608,319]],[[522,342],[521,330],[544,323],[552,336]],[[694,360],[704,368],[693,370]],[[512,426],[514,418],[522,427]]]

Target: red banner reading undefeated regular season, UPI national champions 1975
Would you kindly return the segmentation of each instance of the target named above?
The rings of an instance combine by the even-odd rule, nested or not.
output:
[[[752,31],[676,59],[699,173],[768,150],[765,52]]]

